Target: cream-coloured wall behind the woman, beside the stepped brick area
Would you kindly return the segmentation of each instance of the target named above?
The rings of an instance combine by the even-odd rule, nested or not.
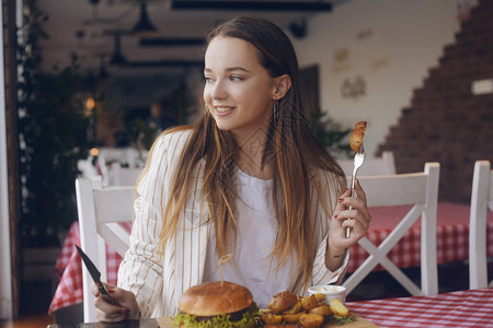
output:
[[[365,151],[374,156],[413,90],[436,67],[459,31],[458,8],[475,0],[351,0],[308,22],[308,35],[291,38],[300,67],[319,65],[320,104],[345,127],[367,120]],[[336,54],[344,54],[336,59]],[[366,94],[341,95],[345,80],[366,81]]]

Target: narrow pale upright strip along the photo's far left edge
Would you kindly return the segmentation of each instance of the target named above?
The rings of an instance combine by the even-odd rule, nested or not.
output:
[[[0,26],[3,16],[0,15]],[[0,33],[0,45],[3,34]],[[12,274],[10,266],[9,195],[7,181],[7,136],[3,51],[0,51],[0,319],[12,318]]]

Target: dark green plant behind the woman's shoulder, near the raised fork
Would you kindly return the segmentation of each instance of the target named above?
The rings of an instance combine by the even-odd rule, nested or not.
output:
[[[352,153],[349,143],[345,142],[346,136],[352,129],[344,129],[339,122],[330,117],[325,117],[328,113],[319,109],[310,116],[310,129],[317,140],[332,154],[342,154],[346,157]]]

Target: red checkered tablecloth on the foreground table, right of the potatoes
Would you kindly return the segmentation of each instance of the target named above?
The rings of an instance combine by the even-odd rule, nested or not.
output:
[[[491,288],[346,305],[379,327],[493,327]]]

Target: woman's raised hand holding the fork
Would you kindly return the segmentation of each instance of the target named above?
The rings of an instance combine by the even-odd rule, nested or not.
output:
[[[341,253],[356,244],[366,235],[370,223],[370,213],[366,204],[366,194],[359,181],[355,180],[354,191],[357,198],[349,196],[347,189],[341,195],[330,222],[329,243],[334,253]],[[352,207],[349,210],[348,207]],[[351,229],[349,237],[345,237],[346,227]]]

